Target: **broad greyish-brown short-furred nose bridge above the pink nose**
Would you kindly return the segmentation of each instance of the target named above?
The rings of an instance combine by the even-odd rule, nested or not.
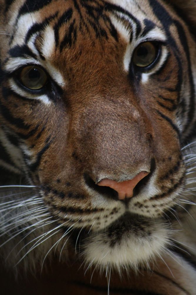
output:
[[[96,183],[101,178],[123,181],[150,171],[144,117],[139,107],[122,101],[97,99],[80,109],[73,120],[72,145]]]

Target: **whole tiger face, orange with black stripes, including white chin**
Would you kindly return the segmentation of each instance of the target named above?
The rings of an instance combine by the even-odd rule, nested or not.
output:
[[[86,262],[136,268],[162,253],[196,116],[185,22],[158,0],[3,1],[0,19],[10,170]]]

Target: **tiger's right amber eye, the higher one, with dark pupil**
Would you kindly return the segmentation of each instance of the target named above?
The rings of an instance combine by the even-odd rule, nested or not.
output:
[[[157,58],[157,51],[157,46],[154,43],[141,43],[133,53],[133,63],[138,67],[147,67]]]

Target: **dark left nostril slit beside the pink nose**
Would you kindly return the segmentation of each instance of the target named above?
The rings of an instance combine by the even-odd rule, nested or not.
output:
[[[87,173],[84,173],[84,180],[86,184],[88,185],[88,187],[90,187],[91,189],[94,189],[100,194],[106,195],[108,198],[118,200],[117,191],[115,191],[114,189],[111,189],[108,186],[99,186],[93,181],[93,179]]]

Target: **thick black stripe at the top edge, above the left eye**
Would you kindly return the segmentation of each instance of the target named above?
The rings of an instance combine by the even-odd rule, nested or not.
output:
[[[35,12],[50,4],[51,1],[52,0],[26,0],[19,11],[18,17],[20,17],[22,14]]]

